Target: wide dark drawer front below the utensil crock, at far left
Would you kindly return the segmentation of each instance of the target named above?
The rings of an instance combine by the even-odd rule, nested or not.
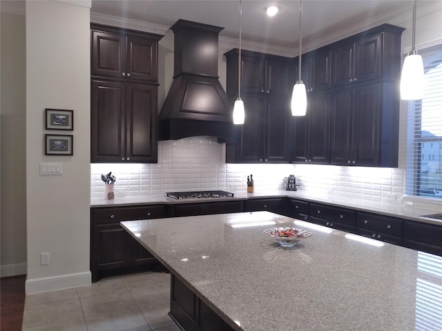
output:
[[[166,205],[145,205],[140,207],[92,208],[93,224],[119,223],[135,219],[159,219],[166,217]]]

